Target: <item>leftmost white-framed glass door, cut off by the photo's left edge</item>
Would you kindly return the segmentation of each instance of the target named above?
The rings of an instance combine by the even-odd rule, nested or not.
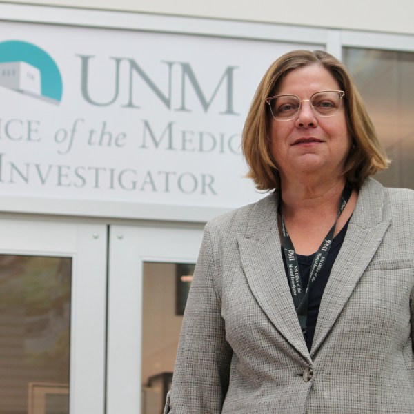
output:
[[[103,414],[106,226],[0,219],[0,413]]]

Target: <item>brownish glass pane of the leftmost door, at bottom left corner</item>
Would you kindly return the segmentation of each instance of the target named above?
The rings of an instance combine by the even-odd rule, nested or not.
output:
[[[67,257],[0,255],[0,413],[68,414]]]

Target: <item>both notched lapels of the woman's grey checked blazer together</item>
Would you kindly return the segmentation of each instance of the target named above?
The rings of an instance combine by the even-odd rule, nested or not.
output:
[[[311,355],[315,355],[335,324],[390,224],[390,219],[383,217],[384,188],[374,179],[367,179],[359,191],[344,243],[322,298],[311,355],[297,321],[284,270],[277,225],[278,203],[278,195],[272,194],[253,208],[245,234],[238,237],[242,266],[250,289],[270,322],[311,362]]]

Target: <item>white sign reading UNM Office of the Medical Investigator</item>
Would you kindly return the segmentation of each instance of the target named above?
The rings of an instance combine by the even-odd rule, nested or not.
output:
[[[257,200],[244,119],[266,68],[293,48],[318,46],[2,23],[2,197],[59,201],[56,213],[62,200],[99,201],[97,215],[111,203],[119,217],[114,203]]]

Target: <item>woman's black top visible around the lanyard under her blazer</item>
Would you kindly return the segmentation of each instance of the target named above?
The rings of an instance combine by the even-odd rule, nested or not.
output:
[[[311,351],[313,335],[315,335],[317,315],[319,313],[319,306],[321,304],[322,295],[324,294],[325,286],[328,283],[328,278],[331,274],[332,266],[335,263],[335,259],[337,258],[342,243],[344,242],[346,230],[348,228],[348,223],[349,220],[346,222],[342,230],[333,239],[331,250],[329,250],[328,256],[326,257],[326,261],[324,262],[324,266],[321,269],[321,273],[319,273],[317,279],[315,280],[315,284],[313,284],[309,292],[308,319],[306,320],[305,335],[306,346],[308,347],[309,351]],[[313,255],[309,256],[297,255],[297,262],[299,262],[300,278],[302,281],[302,286],[304,286],[304,289],[306,289],[306,286],[308,286],[309,271],[311,270],[311,264],[313,262],[313,257],[315,257],[315,254],[316,253],[313,253]],[[286,259],[284,255],[283,246],[282,259],[286,275],[288,275],[288,268],[286,266]]]

